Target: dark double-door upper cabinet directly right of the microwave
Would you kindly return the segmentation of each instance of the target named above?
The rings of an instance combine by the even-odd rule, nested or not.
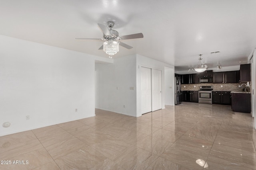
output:
[[[213,73],[213,82],[214,83],[236,83],[237,71],[226,71],[226,72],[214,72]]]

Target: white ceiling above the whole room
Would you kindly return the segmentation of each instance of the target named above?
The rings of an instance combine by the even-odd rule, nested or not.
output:
[[[256,47],[256,0],[0,0],[0,34],[108,58],[97,23],[114,21],[123,40],[114,57],[140,54],[175,65],[247,63]],[[212,51],[220,53],[210,54]]]

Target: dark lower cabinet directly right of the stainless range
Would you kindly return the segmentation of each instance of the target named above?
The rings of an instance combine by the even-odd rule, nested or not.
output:
[[[230,91],[212,91],[212,104],[231,105]]]

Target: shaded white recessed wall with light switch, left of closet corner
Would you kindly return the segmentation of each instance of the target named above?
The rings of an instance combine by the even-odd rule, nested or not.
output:
[[[136,116],[135,55],[114,59],[113,64],[96,63],[95,107]]]

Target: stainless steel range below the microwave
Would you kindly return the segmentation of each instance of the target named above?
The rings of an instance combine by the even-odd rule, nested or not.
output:
[[[213,86],[200,86],[198,91],[198,103],[212,104]]]

